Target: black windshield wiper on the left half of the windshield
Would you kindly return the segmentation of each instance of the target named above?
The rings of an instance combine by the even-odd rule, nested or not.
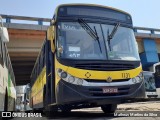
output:
[[[96,27],[94,26],[94,30],[88,25],[87,22],[85,22],[83,19],[78,19],[78,23],[82,26],[82,28],[94,39],[98,41],[99,49],[102,53],[98,33],[96,30]]]

